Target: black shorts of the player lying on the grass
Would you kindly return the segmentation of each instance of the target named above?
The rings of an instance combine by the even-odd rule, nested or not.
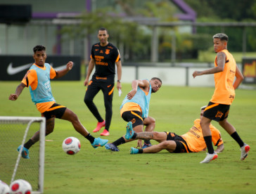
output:
[[[174,150],[174,153],[192,153],[191,150],[188,149],[188,145],[186,144],[184,138],[172,132],[165,131],[165,133],[167,134],[167,141],[175,141],[176,143],[176,149]]]

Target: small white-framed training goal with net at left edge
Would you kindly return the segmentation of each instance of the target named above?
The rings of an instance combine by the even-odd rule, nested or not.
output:
[[[19,145],[40,130],[40,140],[30,148],[30,159],[21,157]],[[44,191],[44,117],[0,117],[0,180],[7,184],[24,179],[32,193]]]

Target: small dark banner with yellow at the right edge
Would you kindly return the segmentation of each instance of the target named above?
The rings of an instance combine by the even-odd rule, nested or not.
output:
[[[243,83],[256,84],[256,58],[243,58]]]

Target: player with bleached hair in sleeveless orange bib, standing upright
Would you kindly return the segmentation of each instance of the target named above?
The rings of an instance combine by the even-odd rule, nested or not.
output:
[[[208,150],[205,160],[200,163],[208,163],[218,157],[212,147],[212,134],[209,128],[212,120],[219,122],[220,126],[222,126],[241,147],[241,160],[245,160],[250,150],[250,146],[244,143],[240,136],[238,136],[235,127],[227,121],[230,105],[235,98],[235,89],[237,89],[239,84],[243,81],[243,75],[236,65],[236,60],[227,50],[228,41],[229,37],[226,34],[215,34],[213,36],[213,45],[215,53],[217,53],[215,67],[193,72],[194,78],[199,75],[208,74],[214,74],[215,76],[215,93],[213,93],[212,99],[207,105],[207,108],[205,108],[203,118],[200,121]]]

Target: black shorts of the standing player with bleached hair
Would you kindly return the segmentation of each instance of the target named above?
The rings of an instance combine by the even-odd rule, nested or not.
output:
[[[210,102],[205,108],[205,112],[203,112],[203,116],[215,120],[217,122],[223,121],[229,116],[229,108],[230,105],[223,105],[218,103]]]

